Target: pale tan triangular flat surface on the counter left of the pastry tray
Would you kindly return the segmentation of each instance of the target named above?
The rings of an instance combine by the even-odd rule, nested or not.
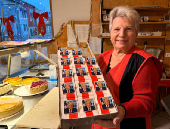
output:
[[[59,88],[54,87],[19,120],[16,127],[58,128],[59,125]]]

